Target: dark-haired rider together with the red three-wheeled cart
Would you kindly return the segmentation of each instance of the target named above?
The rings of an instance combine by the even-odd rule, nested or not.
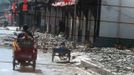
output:
[[[37,49],[33,35],[28,29],[28,26],[24,26],[22,33],[18,34],[13,41],[13,69],[15,69],[16,64],[21,66],[32,65],[35,69]]]

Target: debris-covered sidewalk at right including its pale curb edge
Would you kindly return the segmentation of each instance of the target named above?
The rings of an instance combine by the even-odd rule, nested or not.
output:
[[[85,69],[96,69],[94,71],[101,75],[134,74],[134,53],[131,50],[92,48],[79,53],[76,59],[81,60],[80,64]]]

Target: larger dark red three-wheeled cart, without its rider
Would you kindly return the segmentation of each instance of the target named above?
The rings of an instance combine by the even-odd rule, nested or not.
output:
[[[36,67],[37,49],[31,39],[17,39],[13,45],[13,70],[17,65]]]

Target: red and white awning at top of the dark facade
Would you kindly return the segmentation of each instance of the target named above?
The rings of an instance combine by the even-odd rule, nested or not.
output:
[[[60,0],[52,3],[52,6],[66,6],[66,5],[74,5],[77,4],[77,0]]]

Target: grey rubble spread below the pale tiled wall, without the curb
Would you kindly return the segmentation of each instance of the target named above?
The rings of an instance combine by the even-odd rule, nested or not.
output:
[[[101,68],[110,70],[115,75],[134,74],[134,53],[131,50],[92,48],[86,55],[90,60],[99,63]]]

